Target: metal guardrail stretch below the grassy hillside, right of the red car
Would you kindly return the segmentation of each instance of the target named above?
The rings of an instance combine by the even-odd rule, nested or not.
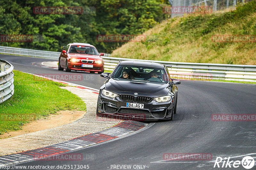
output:
[[[186,63],[155,60],[138,60],[116,57],[102,57],[105,70],[113,70],[119,60],[136,60],[156,62],[172,65],[168,68],[173,78],[178,79],[199,79],[199,80],[227,80],[227,81],[248,81],[256,82],[255,65],[233,65],[233,64],[211,64],[211,63]]]

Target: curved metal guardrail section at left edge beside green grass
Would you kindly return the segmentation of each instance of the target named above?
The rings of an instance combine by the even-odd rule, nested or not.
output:
[[[7,61],[0,60],[0,103],[13,96],[13,69],[14,67]]]

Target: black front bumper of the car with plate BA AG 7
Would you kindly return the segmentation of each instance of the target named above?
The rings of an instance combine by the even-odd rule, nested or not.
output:
[[[135,121],[166,120],[171,119],[172,116],[172,100],[160,103],[152,100],[149,103],[143,103],[143,109],[128,108],[126,107],[126,103],[137,102],[126,102],[121,100],[119,96],[115,98],[103,96],[100,91],[97,104],[97,115],[100,117]]]

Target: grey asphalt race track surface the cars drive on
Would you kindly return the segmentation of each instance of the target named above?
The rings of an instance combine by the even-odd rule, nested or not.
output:
[[[31,64],[49,61],[46,59],[1,54],[0,59],[12,63],[16,70],[29,73],[58,72]],[[94,75],[94,80],[74,83],[98,89],[104,79],[99,74]],[[256,161],[255,121],[221,122],[211,119],[212,114],[255,114],[255,84],[181,81],[178,89],[177,114],[173,121],[150,123],[148,128],[131,135],[70,152],[82,154],[81,161],[32,161],[19,165],[69,165],[68,169],[72,169],[71,165],[73,169],[74,165],[89,165],[89,169],[227,169],[226,163],[221,168],[223,161],[220,168],[214,168],[214,162],[217,157],[223,160],[231,157],[229,161],[233,162],[228,169],[244,169],[241,164],[234,168],[234,161],[242,161],[247,155]],[[205,153],[212,158],[164,160],[164,153]],[[124,165],[131,165],[131,168]]]

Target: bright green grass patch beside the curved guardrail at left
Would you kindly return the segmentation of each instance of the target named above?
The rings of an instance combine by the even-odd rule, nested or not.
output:
[[[0,134],[19,130],[24,124],[60,110],[86,110],[81,98],[59,88],[65,84],[13,72],[14,95],[0,104]]]

